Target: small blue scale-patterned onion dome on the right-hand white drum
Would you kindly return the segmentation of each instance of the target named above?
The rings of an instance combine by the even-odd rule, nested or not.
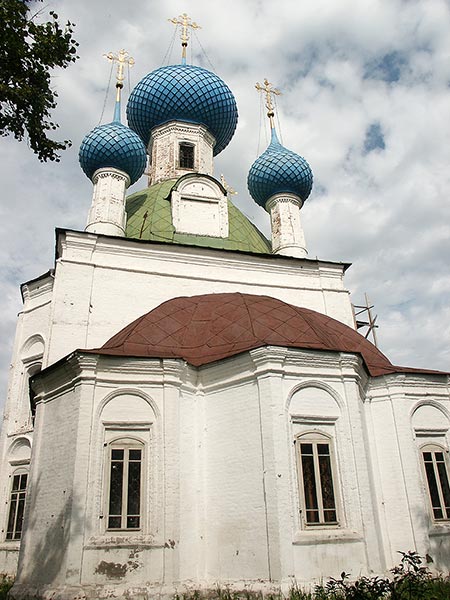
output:
[[[248,173],[248,191],[253,200],[265,208],[274,194],[290,192],[305,201],[312,184],[313,174],[306,160],[284,148],[272,129],[267,150],[255,160]]]

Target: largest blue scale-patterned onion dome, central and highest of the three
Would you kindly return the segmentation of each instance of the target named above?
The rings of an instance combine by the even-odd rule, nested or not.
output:
[[[153,127],[168,121],[205,125],[215,137],[214,155],[233,137],[236,100],[214,73],[193,65],[170,65],[146,75],[132,91],[128,124],[147,146]]]

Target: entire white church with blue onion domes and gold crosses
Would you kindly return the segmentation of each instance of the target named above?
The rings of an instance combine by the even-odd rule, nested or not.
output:
[[[128,125],[130,58],[110,56],[114,117],[79,153],[86,229],[57,229],[53,267],[21,287],[0,438],[11,596],[287,591],[409,550],[448,572],[449,374],[393,365],[356,330],[350,265],[308,257],[312,171],[277,137],[268,80],[248,190],[271,239],[232,203],[214,157],[236,101],[187,64],[180,26],[180,63],[136,85]]]

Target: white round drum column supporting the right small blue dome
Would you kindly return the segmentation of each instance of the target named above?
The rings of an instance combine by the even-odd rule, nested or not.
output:
[[[303,201],[294,194],[275,194],[266,202],[272,227],[272,252],[305,258],[305,235],[300,220]]]

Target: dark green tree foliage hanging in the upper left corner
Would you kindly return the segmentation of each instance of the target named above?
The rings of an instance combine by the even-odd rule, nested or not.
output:
[[[31,5],[37,6],[29,0],[0,0],[0,133],[27,139],[41,161],[58,161],[58,152],[71,142],[48,137],[58,127],[50,118],[58,95],[51,72],[78,58],[78,44],[72,37],[73,23],[61,27],[53,11],[40,22],[39,13],[31,14]]]

